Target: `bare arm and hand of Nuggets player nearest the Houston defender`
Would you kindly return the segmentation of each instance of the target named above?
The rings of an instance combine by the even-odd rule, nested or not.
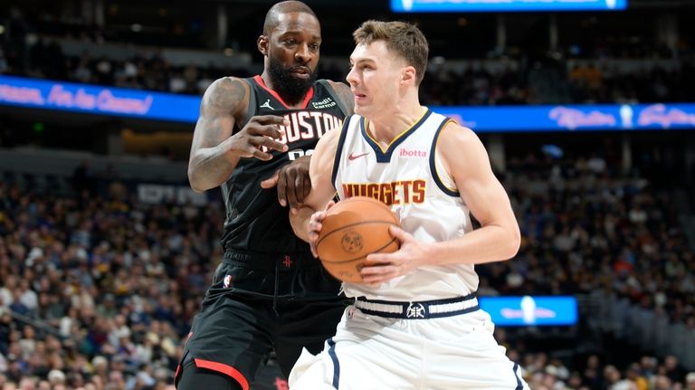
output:
[[[331,175],[340,133],[340,130],[328,131],[319,139],[309,163],[311,191],[301,208],[290,211],[290,223],[294,233],[310,243],[312,251],[319,237],[321,221],[326,217],[327,207],[336,195]],[[314,254],[316,255],[316,252]]]

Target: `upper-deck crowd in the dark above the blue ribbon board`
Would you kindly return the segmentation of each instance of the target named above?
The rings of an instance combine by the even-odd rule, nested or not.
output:
[[[460,69],[431,67],[422,88],[424,102],[431,105],[519,105],[695,99],[695,91],[684,87],[695,82],[694,62],[690,60],[681,62],[677,69],[645,65],[637,70],[623,70],[612,62],[582,63],[572,69],[568,69],[566,62],[510,61],[501,69],[489,63],[471,62]],[[346,71],[335,66],[319,67],[321,77],[333,80],[345,80]],[[214,80],[224,76],[252,76],[252,72],[244,68],[174,66],[156,52],[125,61],[93,57],[88,52],[67,56],[59,44],[43,39],[22,51],[2,44],[0,73],[186,94],[202,94]]]

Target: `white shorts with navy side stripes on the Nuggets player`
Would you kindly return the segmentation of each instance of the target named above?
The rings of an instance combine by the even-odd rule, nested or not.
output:
[[[304,349],[290,390],[528,389],[482,310],[436,319],[389,319],[348,307],[336,336]]]

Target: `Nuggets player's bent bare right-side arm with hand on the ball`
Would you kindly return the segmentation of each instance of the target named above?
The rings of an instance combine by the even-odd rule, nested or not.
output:
[[[373,265],[362,269],[365,282],[388,281],[424,265],[500,262],[519,251],[519,224],[509,196],[492,173],[481,140],[471,129],[450,122],[439,137],[437,153],[481,228],[454,240],[422,243],[412,234],[392,227],[391,233],[401,242],[401,248],[367,256],[368,264]]]

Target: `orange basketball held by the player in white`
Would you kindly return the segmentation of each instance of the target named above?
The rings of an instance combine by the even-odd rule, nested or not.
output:
[[[388,232],[400,226],[391,208],[376,199],[354,196],[328,209],[316,251],[326,270],[340,281],[361,282],[359,271],[369,253],[395,252],[398,240]]]

